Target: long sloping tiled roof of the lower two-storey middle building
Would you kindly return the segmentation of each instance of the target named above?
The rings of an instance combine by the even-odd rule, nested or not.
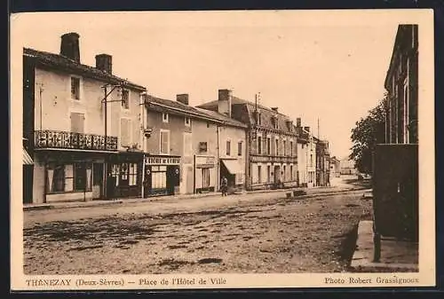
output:
[[[148,106],[161,107],[162,109],[167,109],[177,114],[186,114],[189,116],[193,116],[194,118],[200,118],[211,122],[225,123],[237,127],[246,127],[242,122],[237,122],[222,114],[212,113],[210,111],[194,106],[188,106],[170,99],[157,98],[149,94],[147,94],[145,97],[145,103]]]

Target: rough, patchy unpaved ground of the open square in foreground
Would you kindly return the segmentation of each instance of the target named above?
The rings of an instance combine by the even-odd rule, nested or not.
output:
[[[145,210],[66,221],[33,221],[25,225],[23,232],[24,271],[347,271],[357,224],[370,219],[370,213],[371,201],[364,200],[362,192],[348,192],[303,199],[265,195],[255,201],[221,204],[219,209],[210,206],[164,213]]]

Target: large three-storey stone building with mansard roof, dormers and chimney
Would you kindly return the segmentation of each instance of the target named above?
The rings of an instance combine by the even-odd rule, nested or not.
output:
[[[232,90],[218,90],[218,100],[198,106],[225,114],[247,126],[246,187],[269,189],[297,185],[297,132],[278,108],[241,98]]]

